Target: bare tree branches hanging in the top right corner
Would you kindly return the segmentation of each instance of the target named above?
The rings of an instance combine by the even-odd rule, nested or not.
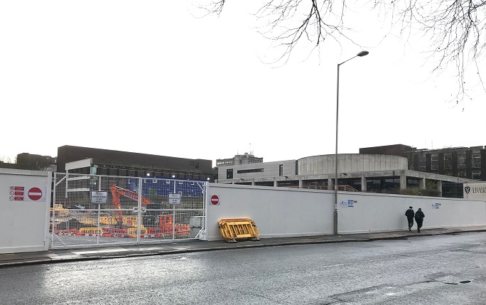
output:
[[[453,97],[456,104],[471,99],[468,90],[474,86],[465,86],[470,64],[478,77],[478,85],[486,92],[477,62],[486,50],[486,1],[375,0],[374,8],[392,12],[392,26],[399,27],[401,33],[415,27],[430,39],[430,48],[423,52],[436,60],[433,72],[441,73],[448,65],[454,65],[458,81],[457,94]]]

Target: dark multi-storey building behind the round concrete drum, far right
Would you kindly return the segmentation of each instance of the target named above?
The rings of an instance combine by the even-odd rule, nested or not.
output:
[[[396,144],[362,148],[360,154],[404,156],[413,171],[486,181],[485,146],[416,149]]]

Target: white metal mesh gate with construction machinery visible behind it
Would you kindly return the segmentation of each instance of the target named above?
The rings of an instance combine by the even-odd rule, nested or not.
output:
[[[207,182],[55,173],[52,249],[200,238]]]

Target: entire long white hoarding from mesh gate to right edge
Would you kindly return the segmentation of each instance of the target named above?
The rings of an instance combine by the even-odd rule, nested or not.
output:
[[[222,240],[222,218],[251,218],[263,238],[333,234],[333,191],[210,183],[207,198],[207,240]],[[410,205],[425,213],[424,229],[486,225],[485,201],[339,192],[338,232],[407,230]]]

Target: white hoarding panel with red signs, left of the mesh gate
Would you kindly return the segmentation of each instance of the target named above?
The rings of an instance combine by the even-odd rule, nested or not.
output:
[[[0,253],[48,250],[51,177],[0,168]]]

